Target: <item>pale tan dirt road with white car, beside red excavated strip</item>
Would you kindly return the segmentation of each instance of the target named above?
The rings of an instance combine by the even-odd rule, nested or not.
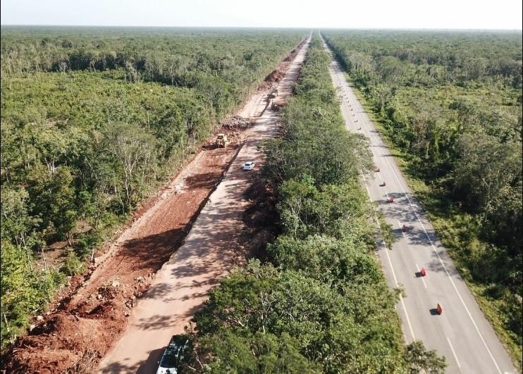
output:
[[[302,47],[279,83],[280,96],[292,93],[307,46]],[[262,116],[247,130],[245,144],[199,213],[185,244],[156,274],[152,287],[133,309],[128,330],[101,361],[99,373],[154,373],[171,335],[183,332],[209,290],[240,259],[236,246],[245,227],[242,215],[249,204],[245,192],[263,163],[259,142],[276,132],[278,118],[259,96],[239,113],[256,116],[260,111]],[[256,170],[243,171],[246,161],[255,161]]]

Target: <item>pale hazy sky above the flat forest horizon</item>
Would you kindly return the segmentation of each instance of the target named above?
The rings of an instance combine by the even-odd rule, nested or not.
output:
[[[2,25],[522,29],[522,0],[1,0]]]

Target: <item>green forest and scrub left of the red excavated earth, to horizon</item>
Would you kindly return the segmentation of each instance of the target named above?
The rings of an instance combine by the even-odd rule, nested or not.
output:
[[[129,80],[129,70],[118,67],[2,71],[2,347],[304,37],[298,31],[118,30],[115,37],[111,29],[2,29],[2,66],[13,50],[28,61],[52,59],[47,53],[54,49],[73,56],[79,49],[63,46],[64,34],[78,48],[99,44],[129,58],[161,49],[164,58],[185,59],[191,68],[180,76],[195,80],[188,87],[159,84],[147,69]],[[97,36],[90,39],[90,32]],[[63,249],[48,262],[51,244]]]

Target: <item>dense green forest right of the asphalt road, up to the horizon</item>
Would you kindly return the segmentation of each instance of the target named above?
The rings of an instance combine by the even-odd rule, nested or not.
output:
[[[521,368],[521,32],[324,37]]]

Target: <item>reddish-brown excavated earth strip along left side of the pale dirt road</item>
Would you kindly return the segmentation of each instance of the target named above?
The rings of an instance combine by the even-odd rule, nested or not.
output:
[[[260,90],[283,77],[297,51],[299,48],[282,61]],[[149,288],[156,271],[183,244],[192,222],[237,153],[245,129],[231,126],[230,121],[224,125],[219,132],[233,138],[230,146],[216,148],[212,146],[214,139],[209,139],[168,186],[146,201],[133,224],[97,257],[96,265],[86,275],[74,278],[54,309],[35,320],[35,328],[18,339],[2,359],[4,373],[92,372],[125,330],[131,308]],[[257,196],[262,190],[258,187],[258,192],[252,193]],[[259,220],[249,218],[255,213],[246,214],[252,221],[252,232],[262,232],[254,227]]]

